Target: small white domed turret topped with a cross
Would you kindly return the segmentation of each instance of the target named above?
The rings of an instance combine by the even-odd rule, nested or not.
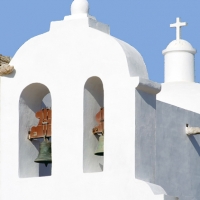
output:
[[[192,45],[180,39],[180,28],[186,23],[177,23],[170,25],[176,27],[176,40],[172,41],[165,50],[163,50],[165,63],[165,82],[194,82],[194,55],[196,50]]]

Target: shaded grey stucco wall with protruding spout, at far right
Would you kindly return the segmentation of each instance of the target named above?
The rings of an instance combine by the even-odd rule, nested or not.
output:
[[[156,179],[169,196],[199,200],[200,135],[187,136],[186,124],[199,126],[200,115],[157,101]]]

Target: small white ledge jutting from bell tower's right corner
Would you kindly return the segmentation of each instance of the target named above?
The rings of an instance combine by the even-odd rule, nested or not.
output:
[[[137,90],[154,95],[161,91],[161,84],[141,77],[134,77],[134,86]]]

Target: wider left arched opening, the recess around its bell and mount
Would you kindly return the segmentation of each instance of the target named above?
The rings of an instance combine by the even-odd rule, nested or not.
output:
[[[36,113],[41,109],[51,109],[51,94],[49,89],[40,83],[28,85],[22,91],[19,99],[19,177],[40,177],[51,175],[51,164],[47,167],[34,160],[38,157],[42,138],[29,140],[29,131],[37,127],[39,119]],[[29,138],[29,139],[28,139]]]

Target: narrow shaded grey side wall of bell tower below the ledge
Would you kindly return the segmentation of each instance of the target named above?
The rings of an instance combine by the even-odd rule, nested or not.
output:
[[[154,183],[156,162],[156,96],[136,91],[136,178]]]

